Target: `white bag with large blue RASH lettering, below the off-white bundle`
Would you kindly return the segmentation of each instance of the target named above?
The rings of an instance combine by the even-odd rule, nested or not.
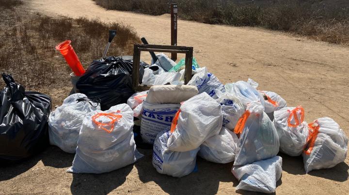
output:
[[[141,136],[144,142],[153,144],[159,132],[171,126],[180,104],[153,104],[143,102]]]

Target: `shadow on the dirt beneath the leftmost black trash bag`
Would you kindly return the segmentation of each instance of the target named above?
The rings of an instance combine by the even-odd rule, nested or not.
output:
[[[13,164],[0,165],[0,181],[10,180],[34,167],[43,157],[42,153],[33,155]]]

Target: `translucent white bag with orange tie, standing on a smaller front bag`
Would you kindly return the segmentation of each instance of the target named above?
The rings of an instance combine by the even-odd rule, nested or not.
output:
[[[239,134],[239,141],[234,166],[242,166],[255,161],[276,156],[279,152],[279,137],[273,123],[263,111],[260,102],[248,104],[234,132]]]

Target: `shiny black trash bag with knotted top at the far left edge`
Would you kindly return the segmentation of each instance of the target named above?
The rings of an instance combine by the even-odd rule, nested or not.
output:
[[[11,75],[2,73],[6,85],[0,94],[0,164],[19,161],[48,145],[51,98],[25,92]]]

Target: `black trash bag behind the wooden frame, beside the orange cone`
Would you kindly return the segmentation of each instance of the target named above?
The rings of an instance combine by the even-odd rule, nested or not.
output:
[[[134,94],[132,66],[131,56],[110,56],[94,60],[77,82],[77,88],[87,97],[99,97],[102,111],[108,110],[111,106],[127,103],[127,99]],[[146,63],[140,63],[140,83],[146,66],[148,66]]]

